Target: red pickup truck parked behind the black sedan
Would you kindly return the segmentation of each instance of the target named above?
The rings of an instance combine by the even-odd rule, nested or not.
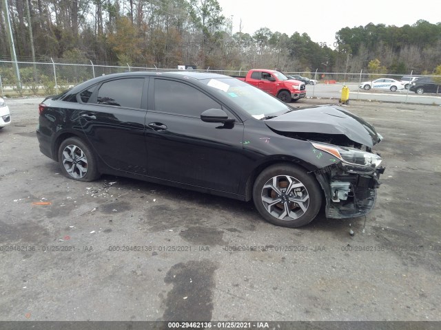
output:
[[[305,83],[289,79],[283,73],[275,70],[252,69],[249,70],[245,78],[240,76],[232,77],[258,87],[283,100],[283,102],[296,102],[306,96]]]

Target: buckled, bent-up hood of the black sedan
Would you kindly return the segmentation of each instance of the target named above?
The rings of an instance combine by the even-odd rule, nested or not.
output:
[[[369,148],[382,140],[371,124],[333,105],[296,109],[264,122],[270,129],[280,132],[342,134]]]

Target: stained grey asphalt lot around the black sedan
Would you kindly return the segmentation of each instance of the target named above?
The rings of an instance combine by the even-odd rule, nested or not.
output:
[[[38,102],[8,100],[0,131],[0,320],[441,320],[440,107],[351,102],[384,135],[375,210],[287,229],[252,203],[63,177]],[[316,102],[336,101],[296,105]]]

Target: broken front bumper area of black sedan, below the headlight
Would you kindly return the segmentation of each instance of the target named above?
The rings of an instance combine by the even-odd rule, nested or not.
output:
[[[325,192],[326,217],[344,219],[369,213],[375,206],[382,173],[384,167],[371,170],[342,164],[316,171],[318,182]]]

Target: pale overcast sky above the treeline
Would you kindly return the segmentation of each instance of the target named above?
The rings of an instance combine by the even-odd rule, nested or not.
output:
[[[233,15],[233,33],[254,34],[259,28],[288,36],[306,32],[316,43],[332,45],[341,28],[384,23],[412,25],[418,19],[441,21],[441,3],[418,0],[218,0],[224,16]]]

